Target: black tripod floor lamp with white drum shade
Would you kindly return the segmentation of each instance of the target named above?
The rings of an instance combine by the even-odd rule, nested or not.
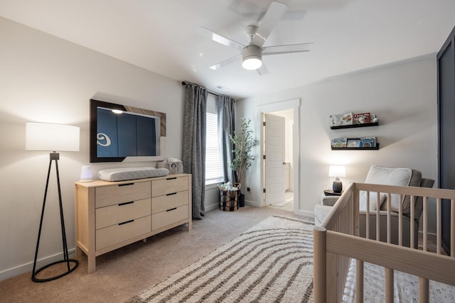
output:
[[[68,275],[70,272],[73,272],[79,265],[79,262],[68,257],[68,245],[66,242],[66,233],[65,233],[65,221],[63,219],[63,205],[62,205],[62,194],[60,191],[60,176],[58,175],[58,159],[59,154],[55,152],[58,151],[79,151],[79,128],[77,126],[68,126],[63,124],[54,124],[54,123],[26,123],[26,150],[53,150],[49,154],[49,168],[48,168],[48,178],[45,182],[45,191],[43,198],[43,209],[41,210],[41,220],[40,227],[38,230],[38,240],[36,241],[36,250],[35,250],[35,259],[33,260],[33,271],[31,274],[31,280],[33,282],[47,282],[58,279]],[[41,238],[41,228],[43,227],[43,217],[45,209],[45,200],[48,194],[48,185],[49,185],[49,176],[50,168],[52,167],[52,162],[55,161],[55,172],[57,174],[57,188],[58,188],[58,203],[60,206],[60,225],[62,228],[62,243],[63,243],[63,260],[58,260],[48,265],[43,266],[42,268],[36,270],[36,258],[38,257],[38,248],[40,246]],[[66,263],[66,271],[55,275],[53,277],[38,278],[39,272],[50,268],[53,265],[60,263]],[[70,266],[70,263],[73,263],[73,267]]]

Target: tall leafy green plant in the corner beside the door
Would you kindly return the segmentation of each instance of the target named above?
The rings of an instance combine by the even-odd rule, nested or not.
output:
[[[229,136],[232,143],[230,168],[234,173],[234,182],[238,184],[239,191],[243,174],[250,168],[256,158],[255,155],[252,155],[252,149],[259,144],[259,141],[252,136],[253,131],[250,129],[251,120],[246,118],[241,118],[241,120],[240,133]],[[245,195],[242,192],[240,192],[240,206],[245,206]]]

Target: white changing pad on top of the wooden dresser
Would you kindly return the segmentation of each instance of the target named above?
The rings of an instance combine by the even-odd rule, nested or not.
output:
[[[125,181],[167,176],[166,168],[156,167],[119,167],[100,170],[98,177],[105,181]]]

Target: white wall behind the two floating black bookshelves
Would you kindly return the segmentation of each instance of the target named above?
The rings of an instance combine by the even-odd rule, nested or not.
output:
[[[299,174],[301,214],[311,214],[323,189],[331,188],[330,164],[346,165],[346,186],[363,182],[370,165],[412,167],[437,180],[437,69],[435,55],[333,77],[275,94],[237,102],[237,116],[246,116],[256,125],[258,106],[300,99]],[[331,130],[330,114],[346,112],[377,114],[380,126]],[[375,136],[380,150],[331,150],[331,138]],[[257,151],[259,152],[259,151]],[[257,160],[258,161],[258,160]],[[256,163],[257,166],[257,163]],[[259,170],[247,177],[252,193],[245,199],[255,202]],[[437,184],[437,183],[436,183]],[[432,226],[434,231],[434,226]]]

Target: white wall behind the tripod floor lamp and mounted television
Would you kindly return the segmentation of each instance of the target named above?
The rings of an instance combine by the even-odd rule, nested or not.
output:
[[[49,161],[47,152],[25,150],[25,123],[80,126],[80,151],[60,153],[59,161],[72,251],[74,182],[79,180],[81,166],[89,164],[89,100],[166,113],[166,156],[181,158],[183,88],[175,80],[5,18],[0,18],[0,41],[0,280],[4,280],[31,271]],[[96,175],[105,167],[143,164],[92,164],[92,169]],[[40,259],[62,250],[54,167],[52,176]]]

